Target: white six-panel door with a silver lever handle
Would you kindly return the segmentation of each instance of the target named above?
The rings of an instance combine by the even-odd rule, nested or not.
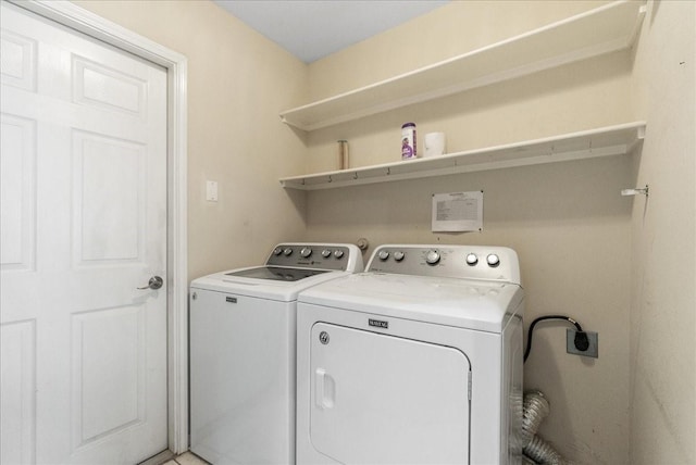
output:
[[[167,447],[166,72],[0,8],[0,463],[134,464]]]

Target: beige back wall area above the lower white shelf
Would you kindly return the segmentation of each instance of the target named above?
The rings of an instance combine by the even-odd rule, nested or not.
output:
[[[325,98],[582,13],[596,1],[459,1],[310,64],[310,93]],[[448,152],[556,136],[631,121],[629,54],[610,54],[309,134],[309,169],[400,160],[402,123],[447,134]],[[520,124],[521,123],[521,124]]]

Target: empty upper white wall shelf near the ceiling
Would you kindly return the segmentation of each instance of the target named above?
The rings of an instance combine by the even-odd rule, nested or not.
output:
[[[645,1],[621,0],[380,83],[281,113],[314,130],[630,48]]]

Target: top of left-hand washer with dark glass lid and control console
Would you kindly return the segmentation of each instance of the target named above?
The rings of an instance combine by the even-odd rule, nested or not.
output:
[[[353,244],[281,243],[265,265],[203,276],[191,281],[191,288],[291,302],[309,287],[362,269],[361,252]]]

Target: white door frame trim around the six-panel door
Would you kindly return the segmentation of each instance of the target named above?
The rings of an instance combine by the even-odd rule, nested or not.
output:
[[[183,453],[188,450],[187,59],[69,1],[8,1],[166,70],[167,437],[170,450]]]

